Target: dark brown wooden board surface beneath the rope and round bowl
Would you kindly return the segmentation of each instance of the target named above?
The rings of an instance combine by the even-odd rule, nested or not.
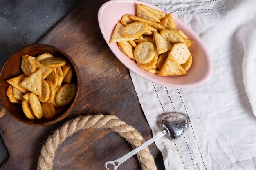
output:
[[[40,149],[52,132],[65,121],[79,115],[113,114],[137,129],[145,140],[152,137],[128,69],[108,48],[99,29],[97,12],[106,0],[85,0],[38,44],[49,44],[65,51],[81,73],[82,94],[72,113],[49,126],[23,124],[8,113],[0,119],[2,137],[10,152],[3,170],[34,170]],[[2,110],[2,106],[0,106]],[[149,146],[163,170],[163,160],[155,144]],[[54,170],[103,170],[132,148],[117,133],[106,129],[79,131],[59,145]],[[160,156],[159,156],[160,155]],[[133,156],[120,170],[141,169]]]

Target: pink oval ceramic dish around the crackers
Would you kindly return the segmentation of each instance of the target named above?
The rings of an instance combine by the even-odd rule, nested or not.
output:
[[[118,48],[117,43],[109,43],[117,21],[120,21],[124,14],[129,13],[131,15],[135,15],[138,3],[145,4],[159,11],[163,11],[162,9],[159,9],[153,5],[137,0],[110,0],[103,4],[98,11],[98,22],[101,33],[115,56],[135,74],[147,79],[150,82],[164,86],[193,87],[207,82],[213,72],[211,57],[198,35],[189,26],[175,16],[173,16],[173,20],[176,28],[184,32],[188,36],[189,40],[194,41],[193,44],[189,46],[189,51],[191,52],[193,61],[191,68],[187,71],[187,75],[157,76],[154,73],[148,73],[147,71],[139,68],[134,61],[122,53]]]

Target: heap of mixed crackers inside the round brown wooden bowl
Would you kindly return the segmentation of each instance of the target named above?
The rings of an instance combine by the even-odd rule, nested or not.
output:
[[[23,55],[23,74],[7,80],[6,94],[12,103],[22,103],[28,119],[53,119],[65,110],[76,94],[72,83],[72,65],[63,57],[44,53],[38,57]]]

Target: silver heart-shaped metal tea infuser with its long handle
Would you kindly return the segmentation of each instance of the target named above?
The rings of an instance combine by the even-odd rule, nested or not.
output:
[[[155,142],[160,137],[166,135],[166,137],[170,141],[178,141],[182,138],[182,136],[185,134],[186,130],[189,128],[189,122],[190,118],[187,115],[184,115],[183,113],[168,113],[164,115],[160,121],[160,127],[163,130],[159,134],[157,134],[155,137],[149,139],[141,146],[137,147],[135,150],[132,150],[128,154],[124,155],[123,157],[115,160],[115,161],[109,161],[105,163],[105,168],[107,170],[110,170],[107,166],[109,164],[114,166],[113,170],[116,170],[119,165],[121,165],[124,161],[147,147],[148,145]]]

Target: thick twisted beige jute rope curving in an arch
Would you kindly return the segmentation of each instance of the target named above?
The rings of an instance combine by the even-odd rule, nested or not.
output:
[[[40,157],[38,159],[37,170],[52,170],[53,159],[58,144],[65,141],[66,137],[73,135],[78,130],[83,129],[110,128],[124,137],[132,148],[137,148],[144,143],[144,139],[135,128],[132,128],[124,121],[121,121],[115,115],[88,115],[79,116],[73,120],[67,121],[63,126],[58,128],[43,145]],[[150,154],[148,147],[137,153],[138,160],[142,170],[157,170],[153,156]],[[107,160],[106,160],[107,161]]]

